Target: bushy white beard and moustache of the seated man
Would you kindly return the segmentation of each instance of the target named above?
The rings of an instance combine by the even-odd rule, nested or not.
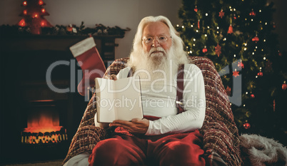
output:
[[[141,80],[145,79],[142,82],[144,85],[151,85],[152,82],[161,85],[171,83],[178,72],[178,61],[176,58],[171,58],[176,57],[173,53],[173,48],[166,53],[161,47],[151,48],[149,53],[139,51],[129,66],[134,66],[136,69],[134,75],[139,76]]]

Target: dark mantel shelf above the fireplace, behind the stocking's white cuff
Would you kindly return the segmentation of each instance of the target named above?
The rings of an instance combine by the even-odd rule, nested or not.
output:
[[[84,35],[14,35],[1,36],[1,52],[69,51],[69,47],[88,38]],[[115,58],[116,38],[124,36],[92,36],[101,58],[106,63]]]

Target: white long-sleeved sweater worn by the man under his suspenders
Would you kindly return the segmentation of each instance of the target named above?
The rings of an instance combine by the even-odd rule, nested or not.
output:
[[[122,69],[116,77],[126,78],[130,69]],[[183,133],[199,129],[203,125],[206,98],[201,70],[193,64],[185,64],[183,79],[183,108],[186,111],[180,114],[177,114],[175,104],[176,79],[156,81],[152,86],[141,83],[144,115],[161,117],[149,121],[146,135]]]

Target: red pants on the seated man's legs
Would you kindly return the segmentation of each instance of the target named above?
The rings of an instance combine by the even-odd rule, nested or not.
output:
[[[205,165],[201,138],[198,130],[168,135],[156,141],[116,135],[98,142],[89,157],[89,166]]]

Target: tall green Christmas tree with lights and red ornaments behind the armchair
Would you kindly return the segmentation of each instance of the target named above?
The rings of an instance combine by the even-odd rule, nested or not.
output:
[[[176,29],[189,56],[213,61],[240,133],[286,144],[286,54],[266,0],[183,0]]]

